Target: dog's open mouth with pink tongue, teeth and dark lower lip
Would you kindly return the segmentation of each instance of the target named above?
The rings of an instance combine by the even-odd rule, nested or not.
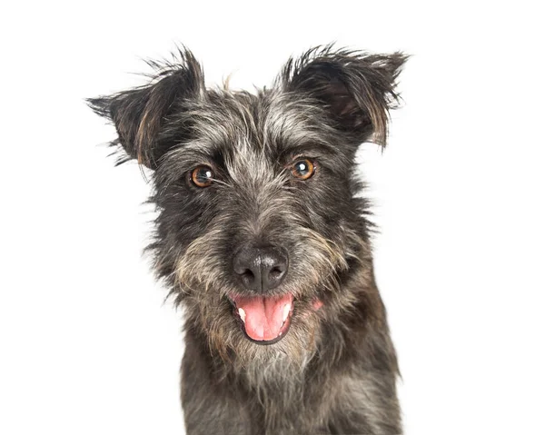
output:
[[[282,340],[290,329],[293,295],[238,296],[231,294],[233,314],[246,337],[257,344]]]

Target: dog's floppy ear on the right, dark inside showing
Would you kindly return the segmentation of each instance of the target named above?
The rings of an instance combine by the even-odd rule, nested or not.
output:
[[[365,54],[312,48],[282,69],[280,82],[288,92],[307,94],[331,114],[337,128],[354,143],[386,144],[389,111],[397,107],[396,79],[408,56]]]

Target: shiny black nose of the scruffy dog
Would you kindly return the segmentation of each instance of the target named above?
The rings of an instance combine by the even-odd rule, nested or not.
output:
[[[244,287],[261,293],[282,282],[288,272],[288,254],[276,246],[244,247],[235,254],[233,267]]]

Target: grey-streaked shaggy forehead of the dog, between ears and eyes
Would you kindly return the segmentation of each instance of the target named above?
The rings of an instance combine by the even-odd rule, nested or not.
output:
[[[191,125],[191,135],[163,158],[158,180],[172,182],[199,164],[222,168],[234,183],[268,182],[299,156],[339,154],[335,130],[322,108],[276,89],[210,91],[187,105],[169,130]],[[278,180],[280,182],[280,180]]]

